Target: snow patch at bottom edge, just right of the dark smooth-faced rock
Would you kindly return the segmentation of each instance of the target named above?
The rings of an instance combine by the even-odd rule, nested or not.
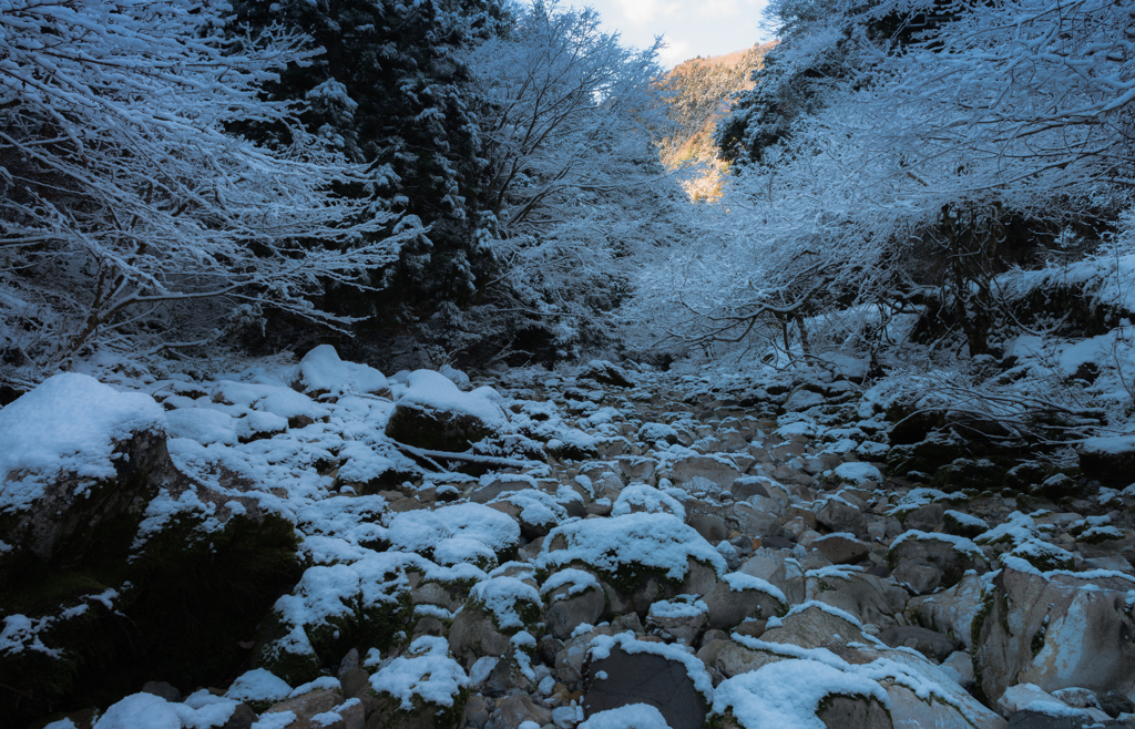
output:
[[[713,712],[732,712],[743,729],[823,729],[816,709],[836,694],[890,705],[875,680],[818,661],[789,659],[722,681],[714,693]]]

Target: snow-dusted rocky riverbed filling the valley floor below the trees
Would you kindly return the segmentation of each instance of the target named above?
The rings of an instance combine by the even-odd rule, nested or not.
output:
[[[0,460],[0,723],[1135,726],[1123,443],[834,364],[96,374],[0,409],[65,446]]]

